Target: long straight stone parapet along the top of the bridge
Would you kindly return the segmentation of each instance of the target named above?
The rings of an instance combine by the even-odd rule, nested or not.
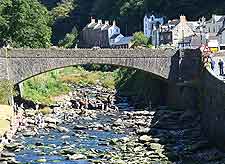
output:
[[[175,49],[8,49],[11,58],[166,58]],[[0,54],[5,57],[5,54]]]

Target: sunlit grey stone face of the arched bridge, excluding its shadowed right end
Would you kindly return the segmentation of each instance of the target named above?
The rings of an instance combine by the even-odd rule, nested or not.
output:
[[[178,67],[171,69],[173,63],[178,63],[171,60],[175,53],[176,51],[172,49],[12,49],[7,51],[9,75],[14,83],[56,68],[88,63],[137,68],[164,79],[176,78],[171,75],[176,75],[178,71]],[[5,56],[1,54],[0,60],[4,61]]]

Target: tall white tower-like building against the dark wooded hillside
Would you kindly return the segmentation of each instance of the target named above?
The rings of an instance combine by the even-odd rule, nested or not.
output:
[[[152,37],[153,30],[159,26],[164,24],[163,17],[156,18],[154,15],[145,14],[144,17],[144,34],[148,38]]]

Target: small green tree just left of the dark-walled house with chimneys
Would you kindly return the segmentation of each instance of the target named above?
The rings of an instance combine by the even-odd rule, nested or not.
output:
[[[73,28],[71,33],[67,33],[63,40],[59,41],[59,46],[64,48],[73,48],[77,43],[78,31],[76,27]]]

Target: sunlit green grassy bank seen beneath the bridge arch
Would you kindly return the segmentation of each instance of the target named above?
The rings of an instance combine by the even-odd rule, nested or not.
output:
[[[103,85],[115,88],[117,72],[86,71],[82,67],[67,67],[38,75],[24,82],[23,96],[34,102],[52,104],[54,97],[71,91],[70,84]]]

